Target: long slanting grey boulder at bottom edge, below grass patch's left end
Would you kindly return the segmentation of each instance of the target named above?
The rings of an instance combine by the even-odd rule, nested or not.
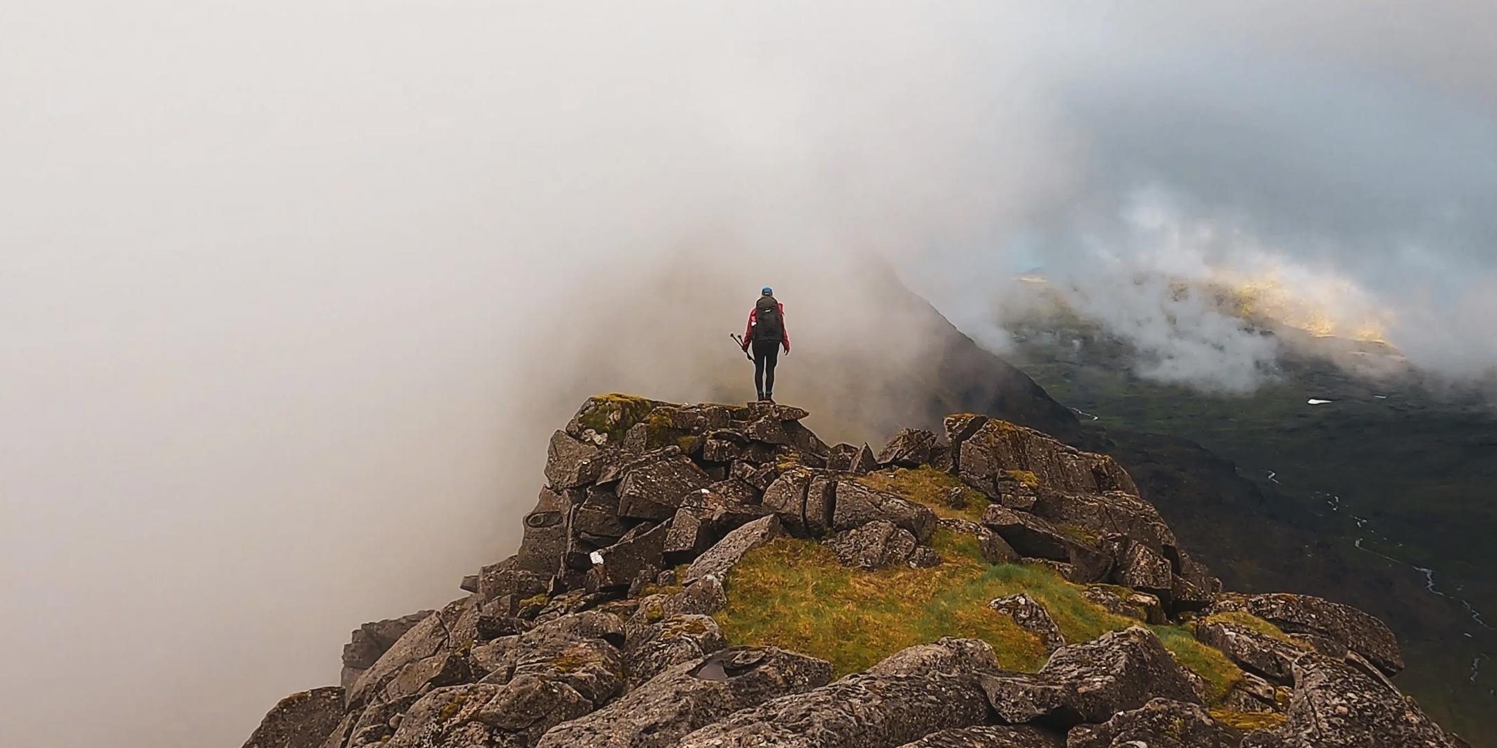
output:
[[[825,685],[832,667],[774,648],[734,648],[668,667],[623,699],[548,732],[536,748],[669,748],[763,702]]]

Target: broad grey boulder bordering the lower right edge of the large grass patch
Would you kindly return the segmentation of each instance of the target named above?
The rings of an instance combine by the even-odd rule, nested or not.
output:
[[[1201,703],[1201,694],[1153,631],[1133,627],[1051,654],[1036,675],[982,675],[998,718],[1072,727],[1102,723],[1151,699]]]

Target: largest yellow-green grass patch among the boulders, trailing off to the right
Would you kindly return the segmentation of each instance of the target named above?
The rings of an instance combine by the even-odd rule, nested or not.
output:
[[[988,601],[1025,592],[1045,606],[1067,642],[1088,642],[1138,621],[1109,613],[1082,588],[1040,565],[982,561],[976,539],[945,528],[931,540],[942,564],[865,571],[837,564],[810,540],[778,539],[751,551],[726,577],[728,606],[716,618],[735,645],[769,645],[825,658],[837,675],[865,670],[906,646],[942,636],[982,639],[998,664],[1036,672],[1039,637]],[[1151,627],[1186,667],[1211,687],[1213,702],[1241,670],[1181,627]]]

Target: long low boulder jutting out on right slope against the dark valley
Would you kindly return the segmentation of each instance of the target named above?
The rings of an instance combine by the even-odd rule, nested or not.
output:
[[[1314,634],[1365,657],[1388,675],[1403,670],[1398,640],[1388,627],[1352,606],[1287,592],[1226,595],[1211,612],[1241,610],[1269,621],[1286,633]]]

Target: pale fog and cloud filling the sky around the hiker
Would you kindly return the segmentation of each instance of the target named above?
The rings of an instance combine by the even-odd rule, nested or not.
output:
[[[1274,350],[1123,280],[1272,278],[1487,377],[1494,21],[0,0],[0,744],[243,742],[512,552],[585,393],[746,396],[763,284],[831,413],[921,359],[885,263],[990,346],[1039,268],[1204,387]]]

